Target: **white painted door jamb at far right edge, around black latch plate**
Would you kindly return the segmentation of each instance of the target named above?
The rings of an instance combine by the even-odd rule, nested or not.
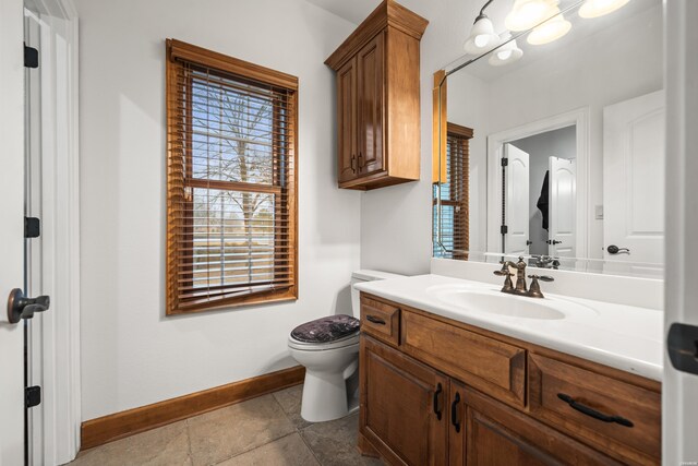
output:
[[[664,2],[666,240],[664,332],[698,325],[698,1]],[[666,353],[662,385],[662,463],[698,461],[698,377],[675,370]]]

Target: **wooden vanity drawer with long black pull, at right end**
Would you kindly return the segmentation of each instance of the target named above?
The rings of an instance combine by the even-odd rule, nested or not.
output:
[[[529,356],[530,413],[609,453],[661,455],[661,394],[540,355]]]

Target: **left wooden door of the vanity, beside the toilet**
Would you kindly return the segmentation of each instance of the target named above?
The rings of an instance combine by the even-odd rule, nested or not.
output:
[[[446,377],[369,336],[359,367],[361,435],[389,464],[446,464]]]

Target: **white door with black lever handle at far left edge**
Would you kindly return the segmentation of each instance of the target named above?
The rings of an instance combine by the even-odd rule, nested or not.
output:
[[[23,287],[24,5],[0,2],[0,302]],[[24,335],[0,309],[0,465],[24,464]]]

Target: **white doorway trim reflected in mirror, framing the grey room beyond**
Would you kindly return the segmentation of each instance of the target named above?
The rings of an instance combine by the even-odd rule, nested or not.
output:
[[[578,108],[565,113],[500,131],[488,136],[488,235],[486,252],[502,252],[498,213],[502,206],[501,160],[504,144],[529,138],[546,131],[576,127],[577,144],[577,252],[578,258],[587,258],[589,250],[589,229],[587,212],[589,205],[589,107]],[[496,212],[497,214],[493,214]]]

